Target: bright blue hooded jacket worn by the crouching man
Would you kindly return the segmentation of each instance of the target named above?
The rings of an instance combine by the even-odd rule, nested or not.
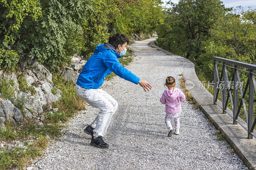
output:
[[[85,89],[97,89],[103,84],[105,77],[112,71],[117,76],[138,84],[140,78],[123,67],[118,60],[121,56],[117,54],[116,50],[104,48],[106,46],[103,46],[104,44],[99,44],[95,48],[95,53],[85,63],[76,84]]]

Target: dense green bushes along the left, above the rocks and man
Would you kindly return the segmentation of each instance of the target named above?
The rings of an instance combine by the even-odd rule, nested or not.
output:
[[[24,58],[57,71],[70,55],[88,59],[111,33],[150,33],[163,22],[160,0],[1,0],[0,66]]]

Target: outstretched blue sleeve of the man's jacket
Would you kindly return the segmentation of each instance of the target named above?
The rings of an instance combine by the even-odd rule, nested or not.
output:
[[[109,70],[113,71],[117,76],[124,78],[127,81],[139,83],[140,78],[133,74],[130,70],[124,68],[124,66],[119,62],[116,56],[112,54],[104,55],[102,57],[103,63]]]

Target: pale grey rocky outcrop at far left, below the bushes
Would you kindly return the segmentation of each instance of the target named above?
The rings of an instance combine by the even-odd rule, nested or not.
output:
[[[57,101],[61,97],[61,92],[56,87],[52,87],[52,73],[37,60],[28,59],[23,61],[23,65],[27,68],[23,73],[26,81],[25,84],[35,89],[33,95],[29,91],[24,92],[20,90],[16,74],[6,74],[0,71],[0,77],[12,86],[14,99],[23,103],[24,116],[33,117],[43,113],[43,105]],[[20,125],[20,122],[24,121],[20,110],[16,109],[17,111],[14,112],[13,110],[16,107],[9,100],[1,100],[1,102],[3,107],[0,107],[0,125],[6,120],[11,120],[15,124]],[[7,103],[12,112],[7,109]],[[5,111],[6,109],[7,111]]]

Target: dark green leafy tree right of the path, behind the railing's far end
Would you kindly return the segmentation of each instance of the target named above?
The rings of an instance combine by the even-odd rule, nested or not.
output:
[[[164,49],[199,62],[201,43],[210,37],[209,30],[224,15],[220,0],[180,0],[172,4],[164,25],[158,28],[158,44]]]

